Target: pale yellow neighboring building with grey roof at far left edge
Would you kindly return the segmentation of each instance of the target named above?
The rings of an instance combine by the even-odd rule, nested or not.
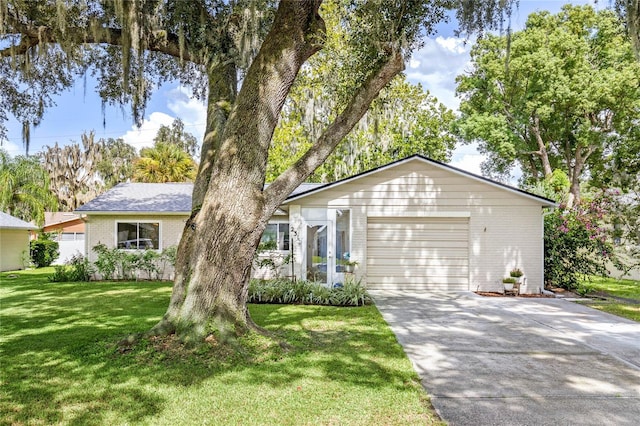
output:
[[[24,269],[29,259],[30,231],[37,226],[0,212],[0,271]]]

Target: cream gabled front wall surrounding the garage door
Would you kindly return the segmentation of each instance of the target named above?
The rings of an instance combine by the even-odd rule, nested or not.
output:
[[[513,268],[525,291],[543,287],[541,203],[467,176],[413,160],[291,202],[298,208],[349,208],[352,257],[366,280],[367,216],[420,217],[469,213],[469,290],[498,290]],[[298,207],[300,206],[300,207]],[[294,210],[295,209],[295,210]]]

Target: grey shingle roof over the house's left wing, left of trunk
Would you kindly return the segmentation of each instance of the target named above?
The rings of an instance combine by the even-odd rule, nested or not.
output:
[[[192,183],[121,183],[76,212],[190,213]]]

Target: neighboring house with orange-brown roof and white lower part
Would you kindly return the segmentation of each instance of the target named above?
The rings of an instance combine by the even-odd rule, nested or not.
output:
[[[53,262],[61,265],[77,254],[84,254],[85,224],[80,215],[69,212],[45,212],[43,231],[54,233],[60,255]]]

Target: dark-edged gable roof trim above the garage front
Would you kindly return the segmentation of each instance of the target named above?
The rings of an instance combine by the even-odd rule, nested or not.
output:
[[[429,164],[431,166],[434,166],[436,168],[448,171],[450,173],[453,173],[453,174],[456,174],[456,175],[459,175],[459,176],[474,180],[476,182],[480,182],[482,184],[486,184],[486,185],[492,186],[494,188],[498,188],[498,189],[501,189],[501,190],[504,190],[504,191],[508,191],[508,192],[510,192],[510,193],[512,193],[512,194],[514,194],[516,196],[525,197],[525,198],[527,198],[527,199],[529,199],[531,201],[535,201],[535,202],[539,203],[541,206],[544,206],[544,207],[557,207],[557,205],[558,205],[555,201],[550,200],[548,198],[541,197],[541,196],[532,194],[530,192],[524,191],[522,189],[514,188],[512,186],[509,186],[509,185],[506,185],[506,184],[503,184],[503,183],[500,183],[500,182],[493,181],[493,180],[485,178],[483,176],[478,176],[476,174],[467,172],[465,170],[458,169],[456,167],[450,166],[448,164],[441,163],[439,161],[431,160],[431,159],[429,159],[427,157],[424,157],[422,155],[419,155],[419,154],[412,155],[410,157],[394,161],[394,162],[386,164],[384,166],[380,166],[380,167],[377,167],[375,169],[371,169],[371,170],[368,170],[366,172],[362,172],[360,174],[357,174],[357,175],[354,175],[354,176],[351,176],[351,177],[348,177],[348,178],[345,178],[345,179],[341,179],[341,180],[336,181],[336,182],[328,183],[328,184],[322,185],[322,186],[317,187],[317,188],[312,188],[310,190],[307,190],[307,191],[304,191],[304,192],[301,192],[301,193],[298,193],[298,194],[292,194],[291,196],[289,196],[285,200],[284,204],[289,204],[289,203],[291,203],[291,201],[300,200],[302,198],[305,198],[305,197],[308,197],[308,196],[311,196],[311,195],[314,195],[314,194],[318,194],[318,193],[320,193],[322,191],[326,191],[326,190],[330,190],[332,188],[339,187],[340,185],[343,185],[345,183],[354,182],[354,181],[357,181],[358,179],[361,179],[361,178],[364,178],[364,177],[367,177],[367,176],[372,176],[372,175],[375,175],[376,173],[380,173],[380,172],[383,172],[385,170],[393,169],[395,167],[398,167],[398,166],[403,165],[403,164],[407,164],[407,163],[412,162],[412,161],[420,161],[420,162],[423,162],[425,164]]]

